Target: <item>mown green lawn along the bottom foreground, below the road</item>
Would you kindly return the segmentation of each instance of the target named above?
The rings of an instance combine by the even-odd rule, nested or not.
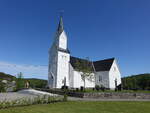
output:
[[[58,102],[1,109],[0,113],[150,113],[150,102]]]

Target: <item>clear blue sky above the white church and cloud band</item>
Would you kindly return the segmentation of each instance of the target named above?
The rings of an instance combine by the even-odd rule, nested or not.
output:
[[[150,72],[150,0],[0,0],[0,72],[48,64],[62,9],[73,56],[115,57],[122,76]]]

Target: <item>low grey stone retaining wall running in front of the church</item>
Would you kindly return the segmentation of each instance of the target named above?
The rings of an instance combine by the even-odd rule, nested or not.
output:
[[[46,89],[42,91],[63,95],[62,90]],[[124,92],[67,92],[68,96],[79,98],[99,98],[99,99],[150,99],[150,93],[124,93]]]

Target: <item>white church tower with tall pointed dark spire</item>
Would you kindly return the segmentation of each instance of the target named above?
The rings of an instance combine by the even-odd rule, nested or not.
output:
[[[67,47],[67,35],[63,19],[60,17],[54,42],[49,49],[48,85],[50,88],[61,88],[65,79],[69,85],[70,53]]]

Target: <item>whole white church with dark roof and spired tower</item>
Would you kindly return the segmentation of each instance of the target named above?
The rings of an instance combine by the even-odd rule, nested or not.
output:
[[[70,55],[67,47],[67,35],[64,30],[63,20],[60,17],[54,42],[49,49],[48,85],[49,88],[61,88],[66,81],[69,88],[84,86],[81,72],[77,71],[76,61],[84,60]],[[121,73],[115,58],[92,62],[94,80],[86,79],[85,87],[95,85],[115,89],[121,84]]]

